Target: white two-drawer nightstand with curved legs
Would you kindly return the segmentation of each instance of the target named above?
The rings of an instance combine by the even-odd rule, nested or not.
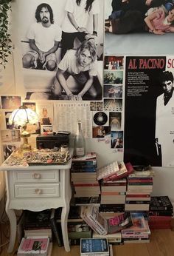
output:
[[[72,155],[73,149],[70,150]],[[66,252],[70,251],[67,232],[69,202],[72,197],[70,168],[72,160],[63,165],[46,166],[7,166],[2,164],[0,171],[6,171],[7,203],[6,212],[10,220],[10,243],[8,252],[13,251],[16,236],[16,216],[14,209],[27,209],[33,212],[62,207],[61,227]]]

